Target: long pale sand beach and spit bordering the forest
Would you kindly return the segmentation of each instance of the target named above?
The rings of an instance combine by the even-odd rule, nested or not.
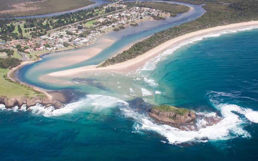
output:
[[[204,36],[204,35],[211,34],[211,33],[216,33],[216,32],[223,31],[223,30],[239,29],[239,28],[248,27],[248,26],[258,26],[258,21],[235,23],[235,24],[230,24],[230,25],[225,25],[225,26],[217,26],[217,27],[213,27],[213,28],[209,28],[209,29],[191,32],[189,34],[185,34],[185,35],[176,37],[174,39],[171,39],[167,42],[164,42],[163,44],[157,46],[156,48],[153,48],[152,50],[150,50],[134,59],[131,59],[131,60],[119,63],[119,64],[110,65],[108,67],[96,68],[98,65],[86,66],[86,67],[74,68],[74,69],[70,69],[70,70],[53,72],[48,75],[55,76],[55,77],[62,77],[62,76],[76,75],[80,72],[87,72],[87,71],[129,72],[129,71],[135,70],[139,67],[142,67],[151,58],[161,54],[163,51],[171,48],[174,45],[180,44],[182,42],[193,39],[195,37],[200,37],[200,36]]]

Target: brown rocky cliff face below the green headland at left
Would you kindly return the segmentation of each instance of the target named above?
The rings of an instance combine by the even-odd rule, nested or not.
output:
[[[0,97],[0,104],[4,104],[5,108],[13,108],[14,106],[18,106],[19,108],[22,105],[26,105],[27,108],[36,105],[36,103],[40,103],[43,105],[53,105],[54,107],[60,107],[62,104],[59,101],[50,101],[48,98],[44,97],[14,97],[14,98],[7,98],[4,96]]]

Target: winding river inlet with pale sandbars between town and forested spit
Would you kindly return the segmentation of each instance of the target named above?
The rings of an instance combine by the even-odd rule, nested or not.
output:
[[[64,89],[69,87],[69,84],[66,86],[64,83],[70,78],[50,78],[47,77],[47,74],[87,65],[97,65],[153,33],[194,20],[205,12],[201,5],[170,1],[168,3],[186,5],[191,7],[191,10],[176,17],[168,16],[166,20],[146,20],[140,22],[139,26],[126,26],[126,29],[119,32],[110,31],[98,37],[94,44],[85,48],[43,55],[42,60],[22,67],[16,72],[16,75],[20,81],[43,89]],[[95,52],[96,55],[92,55],[92,52]],[[89,54],[93,57],[90,57]],[[83,59],[84,61],[80,61]],[[45,80],[50,82],[44,82]]]

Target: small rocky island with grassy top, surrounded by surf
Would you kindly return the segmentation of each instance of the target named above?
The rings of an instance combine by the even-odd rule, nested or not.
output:
[[[185,124],[196,119],[193,111],[168,105],[153,106],[149,116],[164,124]]]

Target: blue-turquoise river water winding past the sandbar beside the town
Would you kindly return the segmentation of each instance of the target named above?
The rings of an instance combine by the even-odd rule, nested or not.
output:
[[[62,89],[64,88],[64,86],[60,85],[60,83],[59,84],[48,83],[40,80],[40,77],[42,75],[46,75],[51,72],[73,69],[73,68],[83,67],[87,65],[97,65],[105,61],[106,59],[120,53],[128,45],[132,45],[133,43],[139,40],[142,40],[143,38],[146,38],[156,32],[168,29],[175,25],[192,21],[198,18],[199,16],[201,16],[205,12],[205,10],[201,7],[201,5],[192,5],[192,4],[186,4],[186,3],[180,3],[180,2],[168,2],[168,3],[184,4],[189,7],[192,7],[193,9],[188,12],[179,14],[176,17],[169,16],[166,18],[166,20],[146,20],[146,21],[139,22],[138,23],[139,26],[136,26],[136,27],[129,25],[129,26],[126,26],[125,29],[120,30],[119,32],[110,31],[107,34],[103,34],[102,36],[98,37],[96,42],[93,45],[90,45],[86,48],[74,50],[76,51],[74,53],[71,53],[70,51],[63,51],[59,53],[51,53],[48,55],[44,55],[42,56],[43,59],[41,61],[28,64],[25,67],[21,68],[19,70],[19,80],[35,86],[39,86],[44,89]],[[83,56],[84,54],[87,54],[85,53],[85,49],[94,48],[97,45],[101,45],[103,43],[101,40],[103,39],[114,39],[116,41],[109,47],[103,49],[97,55],[93,56],[92,58],[75,64],[69,64],[64,67],[59,67],[59,66],[55,66],[55,64],[53,64],[52,62],[56,59],[70,56],[71,54],[74,54],[76,56],[78,55]],[[69,58],[69,59],[72,59],[72,58]],[[60,63],[60,62],[56,62],[56,63]],[[66,87],[67,86],[65,86],[65,88]]]

